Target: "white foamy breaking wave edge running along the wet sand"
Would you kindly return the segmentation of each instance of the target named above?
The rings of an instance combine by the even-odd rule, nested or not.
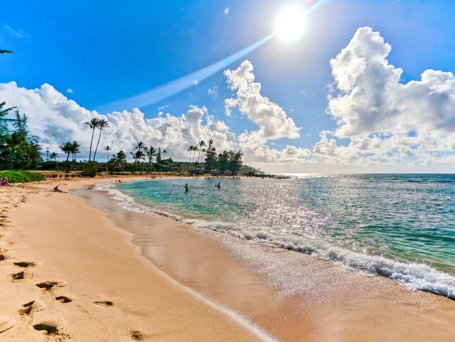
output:
[[[380,256],[370,256],[330,245],[320,238],[276,234],[268,231],[253,231],[233,223],[208,222],[198,219],[181,219],[159,210],[137,203],[132,197],[118,190],[114,184],[98,187],[108,191],[113,198],[121,201],[119,206],[127,210],[155,216],[166,216],[199,228],[225,232],[237,238],[270,247],[279,247],[307,253],[313,257],[330,260],[366,274],[379,274],[396,280],[411,290],[423,290],[455,300],[455,277],[432,267],[417,263],[403,263]]]

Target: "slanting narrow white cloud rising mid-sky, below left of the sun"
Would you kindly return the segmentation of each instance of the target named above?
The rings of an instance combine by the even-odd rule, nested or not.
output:
[[[235,97],[224,102],[226,114],[229,116],[232,108],[238,108],[241,115],[259,126],[255,134],[262,139],[300,137],[301,128],[296,126],[294,120],[261,94],[261,83],[255,82],[253,70],[253,64],[246,60],[236,70],[224,71],[229,88],[236,91]]]

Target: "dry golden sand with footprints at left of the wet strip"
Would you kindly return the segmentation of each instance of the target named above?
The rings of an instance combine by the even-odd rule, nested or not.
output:
[[[260,340],[157,270],[100,210],[53,185],[0,189],[0,340]]]

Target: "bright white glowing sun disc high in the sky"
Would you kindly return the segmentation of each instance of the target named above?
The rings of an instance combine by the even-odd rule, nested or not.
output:
[[[305,28],[305,12],[300,6],[288,7],[278,16],[275,34],[284,41],[295,40]]]

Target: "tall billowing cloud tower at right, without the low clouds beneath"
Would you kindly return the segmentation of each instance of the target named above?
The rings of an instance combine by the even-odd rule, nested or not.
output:
[[[338,94],[327,112],[341,138],[400,130],[444,135],[455,131],[455,77],[426,70],[421,80],[400,83],[403,70],[390,65],[391,46],[379,32],[359,28],[330,61]]]

